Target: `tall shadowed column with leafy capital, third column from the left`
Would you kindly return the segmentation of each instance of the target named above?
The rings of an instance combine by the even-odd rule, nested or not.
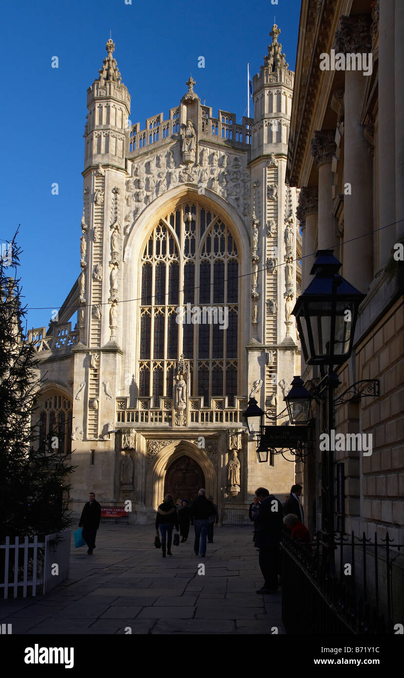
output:
[[[370,25],[370,14],[340,16],[336,52],[369,54]],[[344,183],[350,184],[350,193],[344,197],[344,277],[361,292],[373,279],[373,161],[358,122],[367,77],[363,71],[345,71]]]

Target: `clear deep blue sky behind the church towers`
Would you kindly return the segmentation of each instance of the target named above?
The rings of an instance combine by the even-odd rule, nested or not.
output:
[[[167,118],[190,73],[195,92],[215,116],[222,108],[239,120],[247,108],[247,62],[252,77],[271,41],[274,14],[294,70],[300,0],[22,0],[3,5],[2,14],[0,241],[21,224],[19,275],[30,309],[28,329],[47,327],[80,273],[86,93],[106,56],[110,31],[132,97],[130,119],[140,129],[146,117],[162,111]],[[51,67],[53,56],[58,68]],[[198,68],[199,56],[205,68]],[[54,182],[58,195],[51,193]]]

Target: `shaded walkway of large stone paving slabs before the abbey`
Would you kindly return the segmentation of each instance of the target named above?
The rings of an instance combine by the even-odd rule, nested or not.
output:
[[[92,556],[72,537],[69,579],[46,596],[0,601],[0,621],[20,634],[285,633],[281,593],[256,594],[263,582],[249,527],[216,526],[205,558],[193,553],[193,527],[172,558],[154,537],[153,525],[103,524]]]

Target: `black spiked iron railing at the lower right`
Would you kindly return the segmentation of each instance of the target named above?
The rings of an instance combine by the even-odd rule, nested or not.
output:
[[[392,561],[403,544],[394,544],[398,552],[392,553],[391,542],[388,534],[378,541],[375,533],[371,542],[365,534],[357,538],[353,532],[336,533],[336,569],[331,571],[321,532],[310,544],[300,544],[285,534],[281,578],[287,633],[394,633]]]

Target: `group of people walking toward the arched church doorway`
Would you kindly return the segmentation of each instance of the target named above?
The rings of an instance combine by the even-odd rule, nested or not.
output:
[[[218,506],[213,497],[207,498],[206,491],[201,488],[197,498],[188,505],[188,499],[181,500],[178,509],[171,494],[166,494],[163,503],[157,509],[156,530],[160,530],[161,549],[163,558],[172,556],[171,543],[174,527],[180,532],[181,542],[186,542],[189,534],[189,525],[195,527],[194,553],[202,558],[206,555],[206,544],[214,540],[214,524],[219,521]],[[200,552],[199,552],[200,546]]]

